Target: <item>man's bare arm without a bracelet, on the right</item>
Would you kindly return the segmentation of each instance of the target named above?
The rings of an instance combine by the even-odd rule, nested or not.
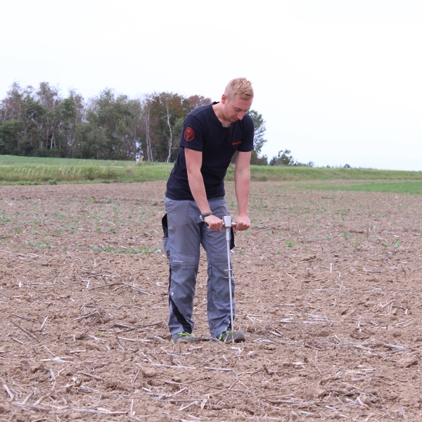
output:
[[[237,223],[234,230],[248,230],[249,219],[249,191],[250,191],[250,155],[251,152],[238,152],[236,158],[236,169],[234,170],[234,190],[238,200],[238,217],[234,219]]]

